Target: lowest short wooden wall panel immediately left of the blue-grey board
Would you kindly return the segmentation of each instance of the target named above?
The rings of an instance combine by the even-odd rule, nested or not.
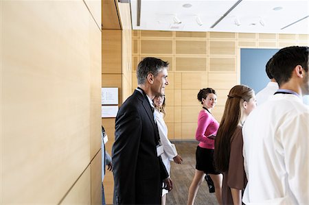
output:
[[[235,58],[209,58],[209,71],[236,71]]]

